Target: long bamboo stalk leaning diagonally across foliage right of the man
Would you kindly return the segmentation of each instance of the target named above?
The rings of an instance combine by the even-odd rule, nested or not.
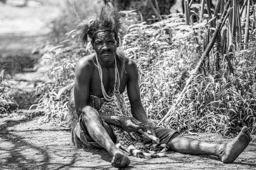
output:
[[[228,0],[228,2],[227,2],[227,4],[226,4],[226,7],[225,7],[225,10],[224,10],[224,12],[222,13],[222,16],[221,16],[221,18],[220,18],[219,24],[218,24],[216,30],[214,31],[213,36],[212,36],[212,38],[211,38],[211,40],[210,40],[210,42],[209,42],[209,44],[208,44],[206,50],[204,51],[203,55],[201,56],[201,58],[200,58],[200,60],[199,60],[199,62],[198,62],[198,64],[197,64],[196,68],[195,68],[194,71],[192,72],[191,76],[187,79],[187,82],[186,82],[186,85],[185,85],[184,89],[183,89],[182,92],[179,94],[179,97],[176,99],[175,104],[174,104],[174,105],[171,107],[171,109],[166,113],[166,115],[162,118],[162,120],[158,123],[158,125],[160,125],[160,124],[171,114],[172,110],[175,109],[175,106],[178,104],[179,99],[180,99],[180,98],[182,97],[182,95],[186,92],[188,85],[191,83],[191,80],[192,80],[194,74],[197,72],[197,70],[198,70],[198,69],[200,68],[200,66],[203,64],[204,57],[205,57],[206,55],[209,55],[211,49],[213,48],[215,39],[216,39],[217,35],[219,34],[219,31],[220,31],[220,28],[221,28],[221,26],[222,26],[222,23],[225,22],[225,20],[224,20],[224,19],[226,18],[225,16],[226,16],[226,14],[229,15],[228,8],[229,8],[229,6],[230,6],[230,1],[231,1],[231,0]],[[228,12],[228,13],[227,13],[227,12]]]

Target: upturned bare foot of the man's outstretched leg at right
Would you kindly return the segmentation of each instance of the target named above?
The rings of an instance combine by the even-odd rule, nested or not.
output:
[[[232,163],[246,149],[251,140],[247,126],[244,126],[236,138],[220,146],[221,161],[223,163]]]

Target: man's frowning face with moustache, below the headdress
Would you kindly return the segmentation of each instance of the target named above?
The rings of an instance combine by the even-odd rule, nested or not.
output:
[[[98,32],[94,35],[94,42],[91,43],[99,60],[106,63],[113,61],[116,48],[119,47],[119,39],[115,40],[114,33],[111,31]]]

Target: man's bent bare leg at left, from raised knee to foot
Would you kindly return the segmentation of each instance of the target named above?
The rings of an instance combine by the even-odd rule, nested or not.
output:
[[[88,133],[95,142],[100,144],[113,156],[111,161],[112,166],[117,168],[128,166],[130,163],[129,158],[121,149],[118,149],[115,146],[107,131],[102,126],[98,112],[90,106],[86,106],[84,111],[86,114],[83,114],[83,121],[86,125]]]

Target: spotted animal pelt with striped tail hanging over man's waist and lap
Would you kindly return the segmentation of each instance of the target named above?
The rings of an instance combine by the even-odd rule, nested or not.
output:
[[[114,99],[110,102],[105,102],[99,111],[102,113],[120,116],[120,117],[132,117],[130,109],[128,109],[120,92],[114,91]],[[169,149],[166,144],[147,144],[144,145],[143,140],[138,132],[126,132],[120,126],[110,125],[116,136],[116,147],[122,149],[128,155],[132,155],[139,158],[155,158],[165,156],[165,152]],[[149,149],[151,146],[160,147],[159,152]]]

